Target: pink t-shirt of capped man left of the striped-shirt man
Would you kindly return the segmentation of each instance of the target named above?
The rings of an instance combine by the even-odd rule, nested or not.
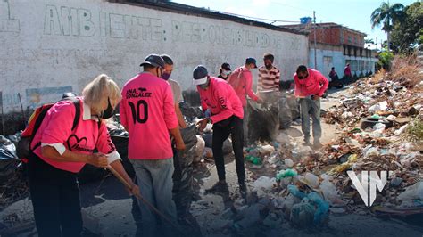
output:
[[[253,93],[253,75],[249,69],[239,67],[229,76],[228,83],[234,87],[236,94],[241,100],[243,106],[246,106],[246,95],[256,102],[259,97]]]

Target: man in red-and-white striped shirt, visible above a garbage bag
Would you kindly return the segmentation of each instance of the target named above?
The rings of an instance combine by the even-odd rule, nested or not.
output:
[[[258,91],[279,91],[280,71],[273,66],[274,60],[273,54],[264,54],[264,66],[259,68]]]

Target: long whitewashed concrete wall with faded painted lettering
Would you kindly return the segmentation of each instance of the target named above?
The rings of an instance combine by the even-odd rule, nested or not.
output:
[[[191,86],[192,70],[211,74],[228,61],[235,69],[246,57],[262,64],[275,54],[282,78],[292,78],[308,59],[303,35],[102,0],[0,1],[0,80],[4,110],[21,110],[79,93],[100,73],[120,86],[140,70],[149,53],[168,53],[172,78]]]

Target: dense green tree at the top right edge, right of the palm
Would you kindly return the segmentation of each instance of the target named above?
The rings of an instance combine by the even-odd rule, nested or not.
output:
[[[404,9],[404,20],[394,25],[392,45],[395,52],[407,53],[411,45],[423,43],[423,4],[416,2]]]

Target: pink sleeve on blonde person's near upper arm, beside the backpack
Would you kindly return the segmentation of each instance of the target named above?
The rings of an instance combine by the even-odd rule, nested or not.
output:
[[[82,115],[81,115],[82,116]],[[48,124],[41,135],[41,143],[65,144],[71,135],[73,119],[75,118],[75,106],[72,102],[57,102],[47,111]]]

